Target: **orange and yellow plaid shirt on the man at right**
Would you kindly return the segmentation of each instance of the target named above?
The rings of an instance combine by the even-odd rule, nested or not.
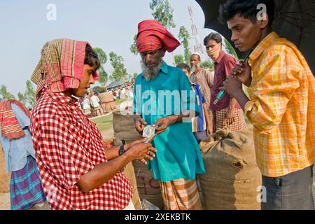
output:
[[[272,32],[249,57],[253,80],[245,113],[253,124],[256,160],[264,176],[314,164],[315,78],[301,52]]]

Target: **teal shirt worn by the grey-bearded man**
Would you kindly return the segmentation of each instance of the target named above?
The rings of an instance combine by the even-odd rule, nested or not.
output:
[[[137,76],[134,113],[140,114],[148,125],[186,110],[199,113],[195,93],[181,69],[164,62],[154,80],[147,81],[142,73]],[[153,161],[148,162],[148,169],[152,169],[154,179],[162,182],[192,180],[196,174],[205,172],[200,148],[191,129],[191,118],[169,125],[165,132],[155,137],[153,146],[158,152]]]

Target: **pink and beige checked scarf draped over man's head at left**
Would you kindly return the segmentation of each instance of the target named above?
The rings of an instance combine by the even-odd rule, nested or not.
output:
[[[37,85],[36,99],[44,87],[52,92],[64,92],[69,88],[76,89],[83,77],[85,47],[90,45],[85,41],[56,39],[43,45],[39,60],[31,81]],[[97,71],[94,79],[99,79]]]

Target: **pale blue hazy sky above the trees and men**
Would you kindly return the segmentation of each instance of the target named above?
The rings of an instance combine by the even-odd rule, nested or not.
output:
[[[130,52],[137,25],[142,20],[153,19],[150,0],[12,0],[0,1],[0,85],[6,85],[8,92],[18,95],[25,92],[26,81],[30,79],[41,48],[55,38],[72,38],[88,41],[92,47],[102,48],[108,57],[106,72],[113,68],[109,52],[113,51],[124,59],[127,73],[141,73],[140,57]],[[190,36],[191,20],[188,6],[193,8],[193,19],[202,43],[211,29],[204,28],[204,13],[194,0],[169,0],[174,9],[176,27],[169,29],[178,36],[179,27],[185,26]],[[51,5],[52,4],[52,5]],[[56,16],[52,16],[55,7]],[[54,20],[55,19],[55,20]],[[190,39],[193,51],[195,39]],[[167,53],[165,61],[173,64],[174,55],[182,54],[183,47],[174,53]],[[205,57],[206,58],[206,57]],[[96,83],[95,85],[97,85]]]

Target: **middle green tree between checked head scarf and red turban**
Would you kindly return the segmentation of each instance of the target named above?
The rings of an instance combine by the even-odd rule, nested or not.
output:
[[[127,78],[127,69],[123,64],[123,57],[116,55],[114,52],[109,53],[109,60],[111,61],[111,66],[113,66],[113,73],[111,75],[111,80],[120,81]]]

